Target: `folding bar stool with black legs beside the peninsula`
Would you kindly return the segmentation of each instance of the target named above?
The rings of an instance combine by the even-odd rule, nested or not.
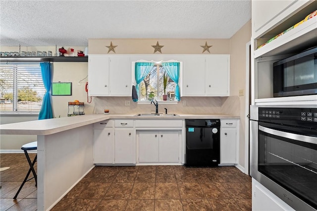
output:
[[[15,196],[13,197],[13,199],[16,199],[16,197],[18,197],[18,194],[20,193],[20,191],[21,191],[23,185],[25,184],[25,182],[27,182],[27,181],[29,181],[29,180],[31,180],[31,179],[34,178],[34,179],[35,179],[35,186],[38,185],[37,175],[36,175],[36,172],[35,172],[35,170],[34,170],[34,164],[35,164],[35,162],[37,161],[38,155],[36,154],[36,156],[35,156],[33,162],[31,162],[31,159],[30,159],[29,154],[28,154],[28,151],[29,151],[29,150],[37,150],[37,149],[38,149],[38,142],[37,142],[37,141],[24,144],[24,145],[21,147],[21,150],[24,151],[25,157],[26,157],[26,159],[28,160],[30,169],[29,169],[28,173],[26,174],[25,179],[23,180],[23,182],[22,182],[22,184],[21,184],[21,186],[20,186],[18,192],[15,194]],[[28,177],[29,177],[31,171],[32,171],[32,173],[33,173],[33,177],[30,178],[30,179],[28,179]]]

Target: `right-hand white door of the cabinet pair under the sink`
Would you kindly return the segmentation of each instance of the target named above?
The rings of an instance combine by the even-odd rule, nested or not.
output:
[[[159,133],[159,162],[179,161],[178,131],[163,131]]]

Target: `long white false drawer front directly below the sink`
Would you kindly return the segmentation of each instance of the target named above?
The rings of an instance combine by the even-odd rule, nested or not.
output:
[[[135,127],[183,127],[182,120],[136,120]]]

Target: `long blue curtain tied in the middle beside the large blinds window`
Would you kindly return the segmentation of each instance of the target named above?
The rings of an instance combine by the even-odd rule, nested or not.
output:
[[[39,120],[44,120],[44,119],[53,118],[51,96],[50,96],[52,76],[51,76],[50,62],[41,62],[40,65],[41,65],[42,80],[43,80],[43,84],[46,89],[46,92],[43,97],[43,103],[39,113]]]

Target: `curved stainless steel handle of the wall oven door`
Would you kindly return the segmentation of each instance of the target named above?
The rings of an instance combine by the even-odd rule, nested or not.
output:
[[[313,137],[313,136],[284,132],[284,131],[275,130],[275,129],[271,129],[271,128],[267,128],[267,127],[263,127],[263,126],[259,126],[259,130],[267,132],[267,133],[272,134],[272,135],[277,135],[280,137],[285,137],[285,138],[289,138],[289,139],[293,139],[293,140],[297,140],[297,141],[302,141],[302,142],[306,142],[306,143],[317,144],[317,137]]]

